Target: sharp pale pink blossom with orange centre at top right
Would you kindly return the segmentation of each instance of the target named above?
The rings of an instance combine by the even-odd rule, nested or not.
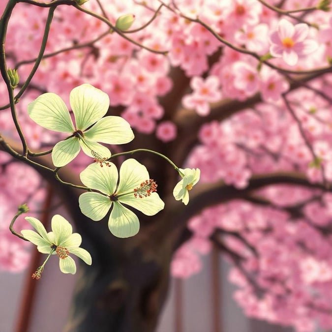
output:
[[[293,25],[286,19],[281,19],[278,27],[270,35],[270,52],[273,57],[281,58],[290,66],[294,66],[299,58],[314,52],[318,44],[306,39],[309,27],[300,23]]]

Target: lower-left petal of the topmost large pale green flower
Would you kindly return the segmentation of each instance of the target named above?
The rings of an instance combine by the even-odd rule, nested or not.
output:
[[[58,142],[52,151],[54,166],[62,167],[72,161],[80,152],[80,143],[77,137],[70,137]]]

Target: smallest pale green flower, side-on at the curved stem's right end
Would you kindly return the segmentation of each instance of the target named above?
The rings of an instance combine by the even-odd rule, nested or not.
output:
[[[173,190],[173,196],[177,201],[182,200],[184,205],[187,205],[189,202],[189,193],[192,187],[199,181],[201,170],[199,168],[179,168],[181,181],[176,184]]]

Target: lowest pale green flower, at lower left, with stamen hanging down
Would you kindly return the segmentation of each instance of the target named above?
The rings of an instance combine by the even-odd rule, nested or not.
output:
[[[72,233],[73,229],[70,223],[60,214],[56,214],[52,218],[52,232],[47,233],[43,224],[34,217],[25,218],[32,227],[37,231],[30,229],[22,230],[23,236],[37,246],[37,250],[43,254],[57,254],[60,258],[60,271],[63,273],[76,273],[75,261],[69,256],[74,254],[81,258],[85,263],[91,265],[92,259],[90,253],[80,248],[82,238],[78,233]],[[46,259],[47,261],[47,259]],[[39,267],[33,277],[40,278],[40,274],[44,269],[44,265]]]

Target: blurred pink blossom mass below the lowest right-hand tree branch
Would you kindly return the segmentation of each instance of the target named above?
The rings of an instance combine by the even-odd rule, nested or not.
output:
[[[273,191],[282,192],[282,201]],[[331,220],[332,196],[323,194],[326,205],[315,209],[320,191],[275,185],[260,194],[264,192],[274,208],[235,200],[193,217],[188,224],[192,240],[176,252],[172,273],[182,278],[196,273],[202,265],[199,255],[209,251],[209,239],[216,235],[233,253],[225,254],[235,265],[229,278],[239,286],[234,297],[248,316],[292,325],[301,332],[314,331],[315,320],[328,329],[332,325],[332,238],[320,230],[328,223],[316,220]],[[311,203],[301,215],[287,210],[306,201]]]

